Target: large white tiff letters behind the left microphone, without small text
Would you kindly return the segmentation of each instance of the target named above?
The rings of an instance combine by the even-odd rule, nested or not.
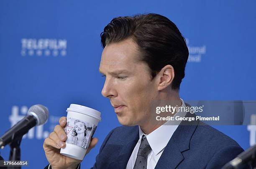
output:
[[[19,115],[19,107],[18,106],[13,106],[11,115],[9,116],[9,121],[11,123],[11,127],[13,127],[18,121],[23,119],[23,117],[26,116],[27,112],[28,112],[28,107],[22,106],[22,107],[20,107],[20,113],[23,114],[23,115]],[[35,132],[36,132],[36,136],[35,136]],[[44,131],[44,125],[40,125],[40,126],[36,126],[36,127],[31,128],[28,131],[28,133],[23,136],[23,139],[24,138],[45,139],[46,137],[48,137],[48,135],[49,135],[49,132]]]

